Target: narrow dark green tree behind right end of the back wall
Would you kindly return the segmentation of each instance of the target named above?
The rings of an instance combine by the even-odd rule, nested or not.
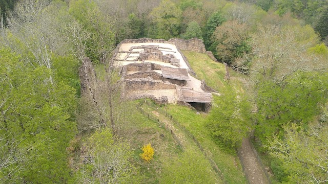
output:
[[[220,12],[215,12],[213,13],[209,19],[206,22],[206,26],[204,29],[204,44],[206,46],[206,48],[208,49],[213,41],[212,41],[212,35],[216,29],[216,27],[220,26],[224,21],[226,21],[226,19],[223,18],[222,14]],[[208,49],[209,50],[209,49]],[[214,51],[213,49],[210,51]]]

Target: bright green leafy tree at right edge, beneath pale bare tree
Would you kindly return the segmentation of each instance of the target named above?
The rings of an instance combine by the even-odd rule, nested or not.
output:
[[[318,104],[326,98],[327,73],[299,72],[282,84],[267,81],[258,88],[259,119],[256,135],[263,143],[273,133],[282,135],[281,127],[288,122],[306,125],[317,116]]]

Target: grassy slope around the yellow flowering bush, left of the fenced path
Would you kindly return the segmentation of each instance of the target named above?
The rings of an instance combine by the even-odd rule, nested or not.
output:
[[[182,151],[177,146],[172,135],[163,128],[160,128],[156,122],[149,120],[141,114],[135,107],[137,101],[128,102],[128,108],[131,112],[126,122],[123,136],[130,143],[134,152],[132,163],[144,175],[144,183],[159,183],[163,170],[163,163],[172,162],[172,157],[177,157]],[[154,159],[149,163],[140,159],[142,146],[151,144],[154,148]]]

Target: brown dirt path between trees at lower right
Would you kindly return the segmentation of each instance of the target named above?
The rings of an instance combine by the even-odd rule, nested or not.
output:
[[[252,146],[250,139],[242,140],[239,150],[240,162],[245,167],[244,172],[251,184],[267,184],[269,183],[268,178],[265,171],[262,170]]]

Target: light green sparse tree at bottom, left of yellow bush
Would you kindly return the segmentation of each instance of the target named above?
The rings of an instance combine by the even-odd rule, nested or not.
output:
[[[139,176],[129,162],[132,152],[127,142],[112,135],[108,128],[98,129],[85,143],[90,163],[80,169],[80,182],[139,183]]]

